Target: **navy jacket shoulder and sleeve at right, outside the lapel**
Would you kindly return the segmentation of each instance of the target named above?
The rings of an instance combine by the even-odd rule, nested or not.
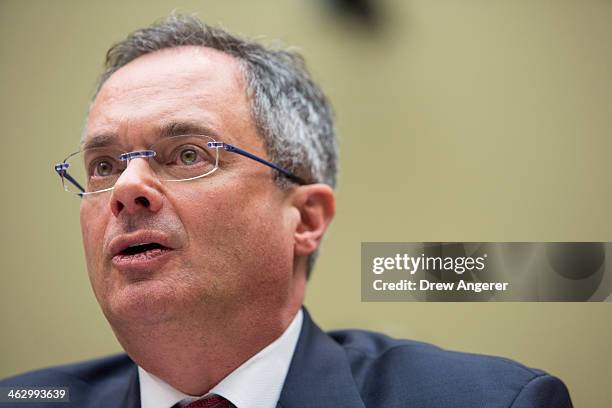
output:
[[[558,378],[507,358],[364,330],[328,334],[346,353],[366,406],[571,407]]]

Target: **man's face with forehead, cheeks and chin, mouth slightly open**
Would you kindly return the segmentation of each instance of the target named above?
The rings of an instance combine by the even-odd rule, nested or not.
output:
[[[266,157],[237,61],[196,47],[148,54],[114,73],[92,105],[84,142],[144,150],[172,123]],[[212,175],[165,182],[147,160],[132,160],[114,190],[81,204],[88,272],[109,321],[224,319],[286,304],[296,212],[271,171],[220,152]],[[134,241],[170,250],[119,262],[119,244]]]

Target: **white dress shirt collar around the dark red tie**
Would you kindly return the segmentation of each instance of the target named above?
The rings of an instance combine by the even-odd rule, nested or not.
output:
[[[274,408],[280,398],[295,351],[303,314],[300,309],[285,332],[215,385],[206,395],[217,394],[237,408]],[[138,367],[141,408],[170,408],[183,399],[196,400]]]

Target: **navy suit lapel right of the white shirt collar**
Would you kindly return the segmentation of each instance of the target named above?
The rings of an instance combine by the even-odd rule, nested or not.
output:
[[[364,407],[346,353],[311,320],[304,322],[278,407]]]

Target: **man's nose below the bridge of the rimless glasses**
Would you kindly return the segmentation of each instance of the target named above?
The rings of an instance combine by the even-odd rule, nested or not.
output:
[[[118,217],[122,212],[158,212],[164,199],[160,187],[159,179],[149,166],[148,159],[130,160],[112,190],[110,206],[113,215]]]

